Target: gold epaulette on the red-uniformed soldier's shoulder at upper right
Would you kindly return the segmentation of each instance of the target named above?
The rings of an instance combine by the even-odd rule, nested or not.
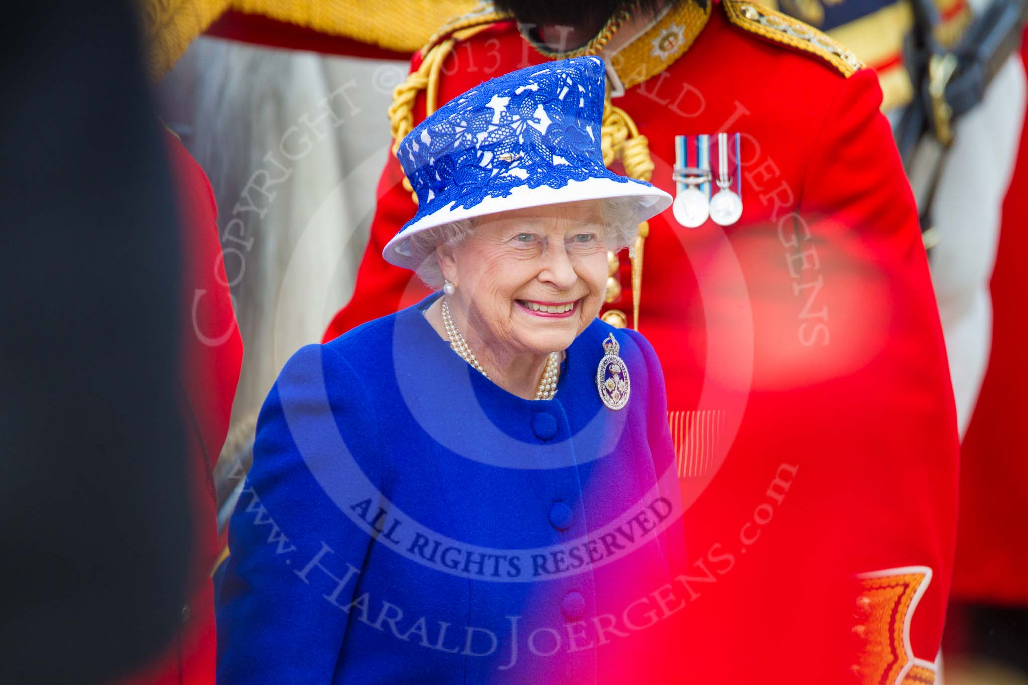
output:
[[[846,78],[864,68],[855,54],[812,26],[787,14],[747,0],[723,0],[721,5],[728,21],[743,31],[820,58]]]

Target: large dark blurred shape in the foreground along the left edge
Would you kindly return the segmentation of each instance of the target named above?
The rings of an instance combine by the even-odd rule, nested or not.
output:
[[[123,3],[8,7],[0,88],[0,682],[103,682],[190,563],[172,180]]]

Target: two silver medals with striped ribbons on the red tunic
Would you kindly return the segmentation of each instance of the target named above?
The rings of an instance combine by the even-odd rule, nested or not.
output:
[[[702,226],[707,219],[731,226],[742,216],[742,169],[739,134],[712,137],[674,137],[674,204],[671,213],[686,228]],[[711,148],[717,165],[711,166]],[[712,185],[718,191],[711,197]]]

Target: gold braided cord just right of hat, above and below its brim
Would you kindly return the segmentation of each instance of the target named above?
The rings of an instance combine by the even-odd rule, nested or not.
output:
[[[608,94],[603,106],[603,125],[600,131],[603,163],[610,166],[620,161],[625,174],[638,181],[653,178],[653,157],[650,141],[639,134],[638,126],[623,109],[611,102]],[[639,302],[642,297],[642,250],[650,235],[650,222],[639,224],[635,244],[632,245],[632,328],[639,328]]]

